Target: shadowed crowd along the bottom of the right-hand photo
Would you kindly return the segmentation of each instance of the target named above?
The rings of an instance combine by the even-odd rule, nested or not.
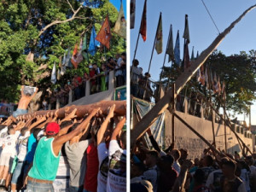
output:
[[[150,128],[147,131],[152,148],[138,140],[131,152],[131,192],[254,192],[256,163],[254,156],[234,156],[210,148],[189,160],[186,149],[161,149]],[[188,172],[186,173],[186,171]]]

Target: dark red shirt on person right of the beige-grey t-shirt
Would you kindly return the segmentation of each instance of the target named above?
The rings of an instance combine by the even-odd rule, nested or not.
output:
[[[86,172],[84,177],[84,189],[96,192],[97,191],[97,176],[99,172],[99,160],[97,147],[94,143],[90,143],[86,149]]]

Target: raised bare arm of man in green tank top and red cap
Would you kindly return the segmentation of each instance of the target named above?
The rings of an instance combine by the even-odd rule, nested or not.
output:
[[[77,128],[70,133],[61,136],[61,137],[56,137],[55,140],[53,141],[53,150],[55,155],[59,154],[61,147],[64,143],[66,143],[68,140],[72,139],[73,137],[79,135],[80,132],[84,131],[86,126],[90,123],[90,119],[98,113],[100,108],[94,109],[90,115],[84,119],[84,121],[77,126]]]

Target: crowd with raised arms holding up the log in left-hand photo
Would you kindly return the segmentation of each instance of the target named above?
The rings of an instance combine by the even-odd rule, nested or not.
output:
[[[126,191],[125,116],[94,108],[0,122],[0,191]]]

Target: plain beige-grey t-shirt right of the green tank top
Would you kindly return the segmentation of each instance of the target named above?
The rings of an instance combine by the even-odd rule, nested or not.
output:
[[[67,161],[70,166],[69,185],[79,187],[84,184],[84,172],[86,157],[84,152],[89,145],[90,140],[84,140],[70,145],[69,141],[65,144]]]

